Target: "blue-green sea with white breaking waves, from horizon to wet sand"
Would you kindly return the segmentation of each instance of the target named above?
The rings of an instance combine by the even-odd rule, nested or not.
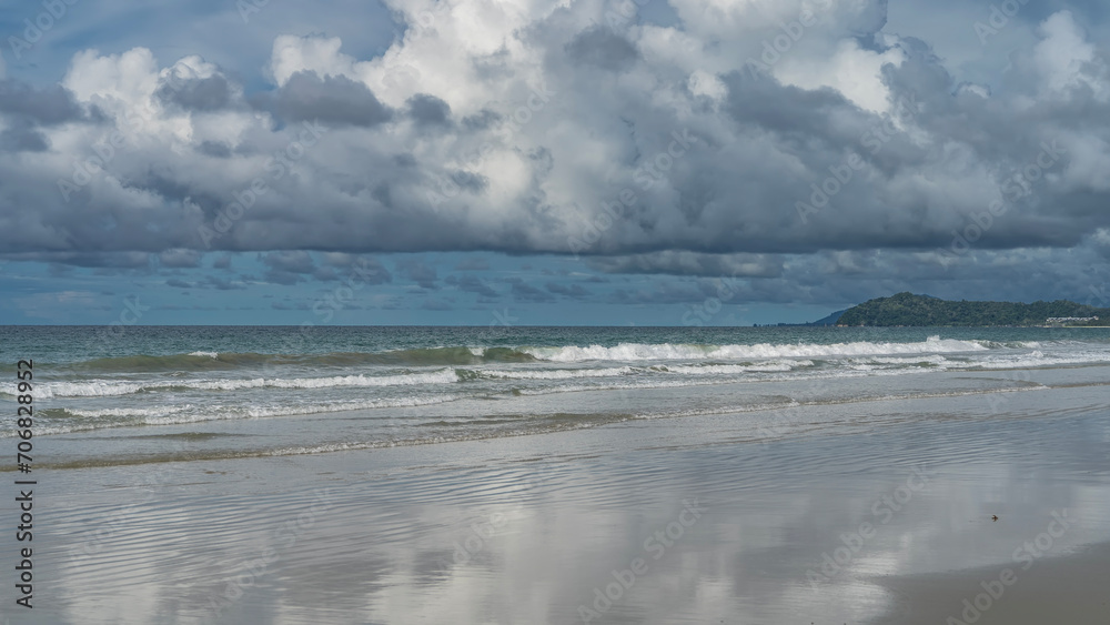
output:
[[[58,468],[703,414],[769,435],[768,409],[1020,392],[1039,385],[1007,372],[1110,362],[1108,329],[9,326],[0,345],[8,399],[33,360],[36,435],[65,451],[42,466]]]

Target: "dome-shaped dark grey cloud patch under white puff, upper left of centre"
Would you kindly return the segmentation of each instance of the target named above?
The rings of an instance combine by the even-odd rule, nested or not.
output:
[[[371,127],[393,114],[365,84],[346,77],[320,78],[306,71],[290,77],[278,90],[274,105],[291,122],[320,121],[329,125]]]

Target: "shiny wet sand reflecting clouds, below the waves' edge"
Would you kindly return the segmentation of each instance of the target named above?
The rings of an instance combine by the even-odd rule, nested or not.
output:
[[[944,623],[1066,512],[987,612],[1021,623],[995,615],[1102,596],[1059,556],[1110,541],[1106,403],[1045,389],[1005,411],[849,402],[759,415],[789,427],[715,414],[42,471],[17,622]]]

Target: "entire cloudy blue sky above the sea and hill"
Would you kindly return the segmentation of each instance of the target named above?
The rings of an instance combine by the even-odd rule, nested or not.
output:
[[[0,323],[1110,306],[1110,8],[0,2]]]

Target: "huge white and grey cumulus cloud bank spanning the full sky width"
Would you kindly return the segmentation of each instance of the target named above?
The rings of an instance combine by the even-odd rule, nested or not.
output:
[[[997,202],[958,262],[1080,250],[1110,228],[1107,40],[1078,8],[1022,13],[1027,47],[956,63],[930,41],[945,33],[886,28],[878,0],[820,8],[778,58],[764,43],[800,2],[676,0],[665,26],[610,23],[596,1],[503,3],[481,28],[444,6],[421,29],[422,6],[390,7],[414,31],[379,54],[280,34],[264,75],[134,48],[81,51],[57,85],[3,81],[4,258],[576,253],[606,273],[775,285],[798,256],[947,248]],[[330,130],[310,145],[313,120]],[[281,259],[266,280],[344,275]],[[513,286],[554,296],[537,291]]]

